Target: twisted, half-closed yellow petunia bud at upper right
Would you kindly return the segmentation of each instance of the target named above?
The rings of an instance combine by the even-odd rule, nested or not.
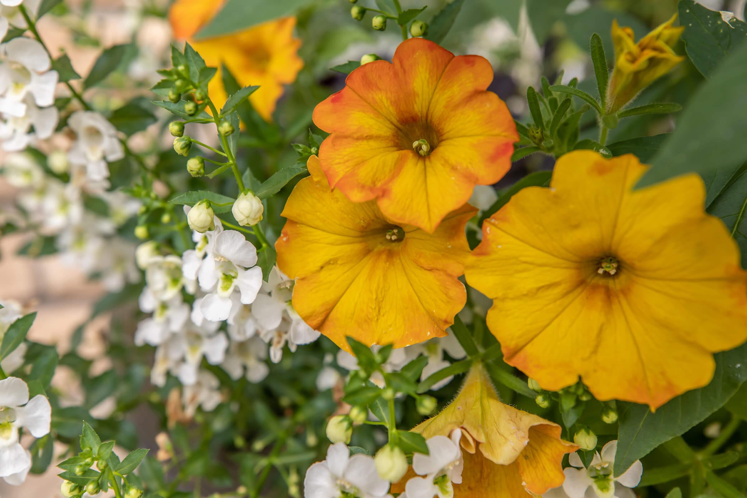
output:
[[[685,57],[675,54],[672,47],[680,39],[684,27],[672,26],[672,19],[658,26],[638,43],[633,29],[621,28],[615,19],[612,23],[612,40],[615,46],[615,69],[607,87],[607,113],[616,113],[633,100],[638,93]]]

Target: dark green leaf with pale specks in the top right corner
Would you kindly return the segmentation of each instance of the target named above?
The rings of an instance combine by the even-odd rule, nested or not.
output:
[[[724,22],[720,12],[692,0],[680,0],[678,10],[687,56],[706,78],[747,38],[747,22],[736,17]]]

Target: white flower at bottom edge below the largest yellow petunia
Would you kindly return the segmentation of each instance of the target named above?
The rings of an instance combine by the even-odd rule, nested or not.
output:
[[[617,440],[605,444],[601,455],[595,452],[588,469],[583,467],[577,453],[568,455],[568,462],[572,467],[563,470],[565,481],[562,489],[565,494],[569,498],[584,498],[586,490],[591,487],[598,498],[633,498],[633,491],[628,488],[634,488],[640,482],[643,465],[640,460],[636,460],[622,475],[614,476],[616,452]]]

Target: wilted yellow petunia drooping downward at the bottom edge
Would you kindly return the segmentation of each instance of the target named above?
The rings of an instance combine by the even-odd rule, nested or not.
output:
[[[412,429],[424,438],[462,430],[464,468],[454,498],[515,498],[543,494],[562,485],[562,458],[578,449],[560,439],[560,426],[504,405],[483,364],[474,364],[456,399]],[[412,470],[393,493],[404,491]]]

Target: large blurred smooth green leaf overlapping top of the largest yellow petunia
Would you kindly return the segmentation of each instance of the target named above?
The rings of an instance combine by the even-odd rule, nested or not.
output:
[[[747,140],[739,132],[747,129],[745,81],[747,43],[724,60],[689,99],[677,128],[654,157],[654,167],[636,187],[693,171],[708,178],[719,166],[737,169],[747,159]],[[718,161],[713,161],[714,151],[718,151]]]

